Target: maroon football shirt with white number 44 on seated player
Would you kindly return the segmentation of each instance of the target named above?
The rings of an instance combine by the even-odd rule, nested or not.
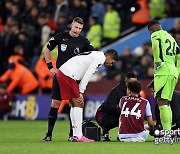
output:
[[[136,134],[144,131],[144,117],[148,100],[124,96],[120,100],[119,134]]]

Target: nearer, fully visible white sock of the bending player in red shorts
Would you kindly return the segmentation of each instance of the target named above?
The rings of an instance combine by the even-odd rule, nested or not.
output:
[[[82,121],[83,121],[83,108],[74,107],[74,122],[75,122],[75,132],[78,138],[83,136],[82,134]]]

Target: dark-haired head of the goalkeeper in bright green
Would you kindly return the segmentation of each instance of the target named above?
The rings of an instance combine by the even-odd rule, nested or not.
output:
[[[162,29],[161,24],[157,20],[150,21],[147,28],[150,34]]]

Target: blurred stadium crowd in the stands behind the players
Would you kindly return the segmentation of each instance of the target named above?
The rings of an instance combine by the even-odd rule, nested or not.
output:
[[[13,67],[8,65],[8,61],[13,59],[25,66],[21,68],[32,72],[29,74],[35,76],[42,89],[50,89],[52,84],[52,76],[44,69],[43,48],[51,36],[69,29],[74,17],[84,20],[82,34],[99,50],[103,41],[108,43],[118,39],[122,31],[132,26],[146,25],[149,17],[160,19],[180,13],[178,0],[1,0],[0,8],[0,76]],[[142,14],[142,11],[146,13]],[[179,19],[170,33],[180,43]],[[129,71],[135,71],[139,79],[153,78],[149,42],[134,51],[125,47],[119,56],[116,66],[108,69],[106,76],[99,74],[96,80],[119,80],[120,73]]]

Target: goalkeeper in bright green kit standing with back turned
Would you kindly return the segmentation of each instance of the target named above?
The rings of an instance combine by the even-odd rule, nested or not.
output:
[[[180,50],[174,38],[161,28],[158,21],[151,21],[148,30],[154,56],[154,97],[159,106],[163,129],[170,130],[172,111],[169,102],[180,72]]]

